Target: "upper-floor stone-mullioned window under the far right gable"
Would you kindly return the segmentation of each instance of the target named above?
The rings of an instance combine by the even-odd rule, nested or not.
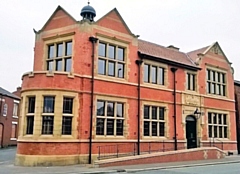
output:
[[[226,74],[207,69],[207,92],[226,96]]]

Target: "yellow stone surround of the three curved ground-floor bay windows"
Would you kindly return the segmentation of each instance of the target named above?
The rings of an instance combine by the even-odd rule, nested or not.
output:
[[[54,116],[54,128],[53,128],[53,135],[42,135],[42,116],[43,116],[43,97],[44,96],[55,96],[55,110],[54,113],[50,113],[50,115]],[[35,96],[35,113],[34,113],[34,130],[33,135],[26,135],[26,116],[27,107],[28,107],[28,97]],[[22,109],[21,110],[21,117],[19,127],[19,139],[20,140],[29,140],[35,139],[35,141],[39,139],[62,139],[61,129],[62,129],[62,110],[58,108],[62,108],[63,97],[73,97],[73,119],[72,119],[72,135],[68,138],[76,139],[78,135],[77,130],[77,118],[78,118],[78,108],[79,108],[79,99],[78,93],[76,92],[67,92],[61,90],[32,90],[32,91],[23,91],[22,92]],[[49,114],[44,114],[49,115]]]

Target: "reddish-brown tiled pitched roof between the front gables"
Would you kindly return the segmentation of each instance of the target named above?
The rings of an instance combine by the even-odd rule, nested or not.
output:
[[[151,43],[144,40],[138,40],[138,51],[141,54],[153,56],[156,58],[173,61],[176,63],[188,65],[191,67],[199,68],[196,64],[188,57],[186,53],[178,50],[173,50],[155,43]]]

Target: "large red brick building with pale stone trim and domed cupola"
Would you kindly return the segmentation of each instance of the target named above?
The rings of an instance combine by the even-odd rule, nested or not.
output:
[[[91,163],[99,146],[236,151],[233,72],[217,42],[183,53],[140,40],[117,9],[96,22],[91,6],[81,15],[59,6],[35,33],[17,165]]]

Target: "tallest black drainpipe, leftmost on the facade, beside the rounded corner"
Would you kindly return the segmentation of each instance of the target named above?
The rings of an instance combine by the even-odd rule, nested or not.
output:
[[[91,86],[91,106],[90,106],[90,136],[89,136],[89,158],[88,163],[91,164],[92,162],[92,121],[93,121],[93,94],[94,94],[94,50],[95,50],[95,43],[97,42],[97,38],[91,36],[89,37],[89,41],[92,42],[92,86]]]

